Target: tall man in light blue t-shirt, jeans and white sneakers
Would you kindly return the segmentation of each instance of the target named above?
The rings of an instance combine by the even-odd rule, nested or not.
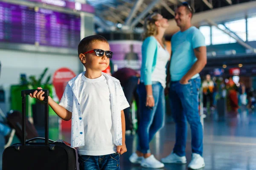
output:
[[[176,141],[172,153],[163,163],[186,164],[186,120],[192,135],[192,160],[190,169],[205,166],[203,154],[203,128],[198,111],[198,92],[201,86],[199,72],[207,63],[204,36],[191,24],[194,11],[182,3],[175,11],[175,21],[180,31],[172,36],[171,78],[169,86],[170,107],[176,124]]]

